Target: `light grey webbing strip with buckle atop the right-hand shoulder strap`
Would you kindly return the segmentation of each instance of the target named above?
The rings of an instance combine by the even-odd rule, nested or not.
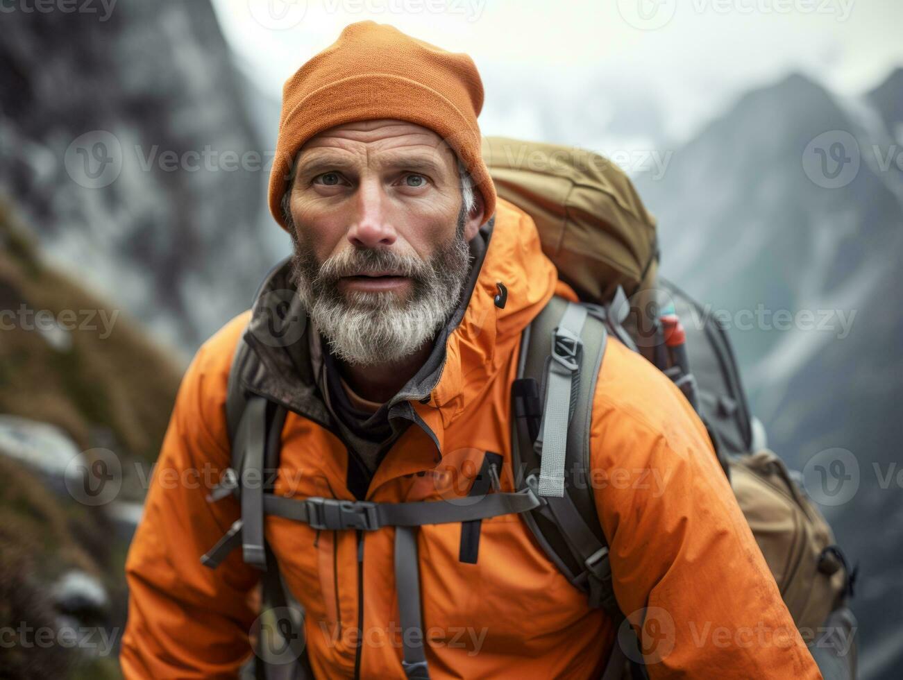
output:
[[[567,428],[571,420],[571,387],[580,368],[580,333],[586,321],[586,308],[568,303],[552,338],[552,360],[546,372],[543,427],[536,439],[536,452],[542,455],[539,470],[539,495],[561,498],[564,495],[564,461]]]

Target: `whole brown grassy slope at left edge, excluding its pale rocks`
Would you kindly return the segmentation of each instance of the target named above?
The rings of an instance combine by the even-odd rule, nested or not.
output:
[[[0,202],[0,311],[18,312],[23,303],[54,317],[63,310],[105,309],[107,318],[114,312],[44,264]],[[56,424],[81,449],[111,448],[124,472],[134,469],[131,463],[149,468],[163,440],[182,368],[124,317],[119,314],[109,337],[100,337],[104,328],[96,319],[98,330],[71,331],[70,347],[54,349],[39,331],[9,329],[13,320],[7,314],[0,328],[0,413]],[[83,318],[79,315],[77,322]],[[144,489],[123,481],[124,492],[131,490],[126,498],[140,499]],[[107,588],[112,610],[104,625],[118,640],[126,615],[126,549],[104,508],[88,508],[52,492],[32,471],[0,455],[0,625],[23,620],[52,625],[51,583],[78,569],[94,574]],[[115,655],[87,660],[70,651],[14,647],[0,654],[0,668],[35,678],[120,676]]]

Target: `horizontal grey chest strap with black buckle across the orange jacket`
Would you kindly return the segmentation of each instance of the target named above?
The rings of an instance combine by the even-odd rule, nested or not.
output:
[[[317,529],[363,529],[375,531],[382,526],[422,526],[485,519],[509,513],[526,512],[539,505],[533,489],[516,493],[490,493],[476,503],[460,505],[454,498],[412,503],[376,503],[368,500],[336,498],[288,498],[266,494],[264,510],[268,515],[304,522]]]

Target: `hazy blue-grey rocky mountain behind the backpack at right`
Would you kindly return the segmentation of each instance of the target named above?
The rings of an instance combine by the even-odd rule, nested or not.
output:
[[[804,472],[852,454],[842,502],[807,490],[860,564],[865,678],[903,663],[901,131],[903,70],[847,99],[793,75],[637,178],[663,272],[728,322],[770,447]]]

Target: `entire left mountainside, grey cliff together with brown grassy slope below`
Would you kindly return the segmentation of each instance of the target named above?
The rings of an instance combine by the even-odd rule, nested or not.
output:
[[[156,340],[191,357],[282,245],[208,3],[25,5],[0,14],[0,675],[114,678],[181,375]],[[109,497],[86,502],[73,474],[98,461]]]

